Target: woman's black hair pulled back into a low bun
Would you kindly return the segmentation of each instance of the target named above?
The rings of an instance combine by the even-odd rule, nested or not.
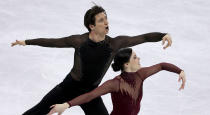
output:
[[[114,57],[114,63],[112,64],[112,68],[114,71],[123,71],[124,64],[129,62],[132,54],[131,48],[123,48],[120,49]]]

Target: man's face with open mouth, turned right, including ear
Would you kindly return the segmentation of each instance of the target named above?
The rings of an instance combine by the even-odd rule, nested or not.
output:
[[[92,31],[96,34],[106,35],[109,31],[107,16],[101,12],[95,16],[95,25],[90,25]]]

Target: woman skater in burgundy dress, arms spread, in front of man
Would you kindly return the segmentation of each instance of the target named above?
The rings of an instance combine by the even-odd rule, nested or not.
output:
[[[143,82],[149,76],[167,70],[179,74],[182,85],[179,90],[184,89],[186,78],[184,71],[170,63],[159,63],[150,67],[141,67],[138,58],[131,48],[121,49],[114,58],[112,68],[114,71],[121,70],[122,73],[114,79],[108,80],[93,91],[80,95],[71,101],[51,106],[48,115],[58,113],[61,115],[65,109],[87,103],[92,99],[111,93],[113,111],[111,115],[137,115],[140,110],[142,99]]]

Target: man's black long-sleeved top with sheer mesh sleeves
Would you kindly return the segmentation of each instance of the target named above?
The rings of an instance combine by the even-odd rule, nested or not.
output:
[[[98,86],[120,48],[144,42],[158,42],[166,33],[152,32],[138,36],[105,36],[100,42],[89,39],[89,33],[64,38],[38,38],[26,40],[27,45],[74,48],[74,65],[70,75],[76,81]]]

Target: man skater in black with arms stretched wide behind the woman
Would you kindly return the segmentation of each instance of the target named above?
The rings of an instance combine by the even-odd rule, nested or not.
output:
[[[114,55],[120,48],[131,47],[144,42],[165,41],[171,46],[171,37],[166,33],[153,32],[137,36],[117,36],[111,38],[106,34],[109,24],[105,10],[100,6],[93,6],[84,16],[84,25],[88,33],[71,35],[59,39],[30,39],[12,43],[15,45],[38,45],[43,47],[74,48],[74,65],[66,78],[54,87],[33,108],[23,115],[45,115],[50,111],[50,106],[64,103],[81,94],[87,93],[100,84],[104,74],[109,68]],[[108,115],[101,97],[80,107],[86,115]]]

